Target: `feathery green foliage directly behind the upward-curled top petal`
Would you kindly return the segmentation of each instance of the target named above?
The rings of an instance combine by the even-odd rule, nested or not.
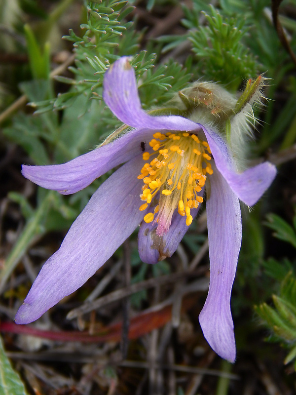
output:
[[[76,54],[75,66],[69,68],[74,77],[55,78],[62,83],[70,84],[71,89],[56,98],[34,103],[38,108],[37,114],[63,110],[71,106],[81,94],[86,99],[83,111],[87,111],[90,108],[89,99],[102,100],[104,73],[114,60],[123,55],[131,56],[136,76],[138,79],[141,78],[141,93],[144,106],[147,108],[170,99],[173,92],[182,89],[190,80],[191,75],[186,73],[181,65],[170,62],[167,66],[162,65],[153,69],[156,62],[155,53],[137,53],[140,35],[135,32],[132,22],[125,21],[134,8],[128,1],[85,1],[85,7],[87,23],[80,26],[84,32],[83,37],[76,35],[73,30],[69,31],[68,36],[64,36],[64,39],[73,42]]]

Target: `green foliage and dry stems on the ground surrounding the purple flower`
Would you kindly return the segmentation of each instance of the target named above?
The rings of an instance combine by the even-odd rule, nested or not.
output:
[[[295,393],[295,18],[295,0],[0,3],[0,394]],[[145,109],[197,79],[232,92],[259,74],[269,79],[249,160],[270,160],[278,176],[243,209],[234,365],[198,324],[209,276],[205,211],[172,258],[142,263],[135,233],[37,322],[13,323],[40,267],[109,175],[65,197],[24,179],[21,164],[68,161],[120,126],[102,80],[123,55],[132,56]]]

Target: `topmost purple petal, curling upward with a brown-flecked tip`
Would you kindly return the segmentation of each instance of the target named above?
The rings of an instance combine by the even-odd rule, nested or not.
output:
[[[151,130],[198,131],[201,126],[178,116],[153,117],[142,109],[135,72],[128,57],[116,60],[106,72],[103,99],[112,113],[129,126]]]

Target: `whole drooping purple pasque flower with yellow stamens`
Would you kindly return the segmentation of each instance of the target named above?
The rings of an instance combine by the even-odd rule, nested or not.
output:
[[[199,100],[205,99],[201,93],[211,98],[210,113],[217,116],[222,110],[209,87],[211,84],[193,90],[199,91]],[[180,97],[190,102],[186,93]],[[218,102],[220,96],[221,92]],[[44,264],[15,321],[32,322],[74,292],[139,224],[141,259],[156,263],[170,257],[197,215],[206,189],[211,271],[199,321],[213,350],[234,361],[230,294],[242,236],[239,199],[254,205],[274,179],[275,167],[264,162],[238,172],[234,151],[222,132],[203,115],[201,123],[196,122],[201,113],[188,112],[187,118],[146,113],[126,57],[106,72],[103,98],[112,113],[129,126],[128,132],[64,164],[23,166],[29,180],[68,195],[124,163],[94,193],[60,249]],[[195,98],[192,102],[196,103]],[[207,103],[204,106],[209,109]]]

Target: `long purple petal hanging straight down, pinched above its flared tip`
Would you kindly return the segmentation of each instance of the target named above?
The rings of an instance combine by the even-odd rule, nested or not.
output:
[[[234,362],[230,295],[241,247],[241,213],[238,198],[216,168],[213,170],[211,192],[207,198],[210,286],[199,322],[212,349],[222,358]]]

